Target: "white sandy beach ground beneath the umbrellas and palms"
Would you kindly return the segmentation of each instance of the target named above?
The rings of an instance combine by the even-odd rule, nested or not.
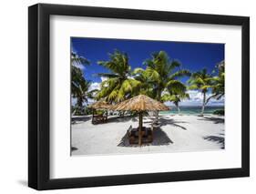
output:
[[[149,127],[154,117],[144,117]],[[160,116],[160,128],[151,144],[129,145],[127,130],[138,127],[138,117],[110,117],[108,123],[93,125],[91,117],[77,117],[71,129],[71,154],[109,155],[143,152],[205,151],[224,148],[224,117]]]

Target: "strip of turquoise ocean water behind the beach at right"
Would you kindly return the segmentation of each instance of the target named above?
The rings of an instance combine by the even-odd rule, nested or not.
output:
[[[180,113],[183,115],[199,115],[201,107],[179,107]],[[212,114],[215,110],[224,109],[224,107],[205,107],[205,114]],[[170,107],[170,111],[160,111],[160,115],[178,114],[177,107]]]

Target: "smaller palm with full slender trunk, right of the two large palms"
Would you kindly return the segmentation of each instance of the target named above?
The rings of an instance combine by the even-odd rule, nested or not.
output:
[[[206,97],[207,93],[210,91],[210,88],[214,86],[213,77],[207,73],[207,69],[203,68],[201,71],[195,72],[189,78],[189,88],[200,90],[203,99],[201,107],[201,116],[203,116],[204,108],[207,103],[210,101],[211,97]]]

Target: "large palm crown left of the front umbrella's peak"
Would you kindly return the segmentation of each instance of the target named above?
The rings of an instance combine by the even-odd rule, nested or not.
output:
[[[108,61],[98,61],[98,65],[108,68],[110,73],[97,74],[99,77],[106,77],[102,81],[97,99],[105,98],[109,103],[120,102],[138,90],[140,82],[131,77],[131,67],[128,64],[128,55],[115,50],[109,54]]]

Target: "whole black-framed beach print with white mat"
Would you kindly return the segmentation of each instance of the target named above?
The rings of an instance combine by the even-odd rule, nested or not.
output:
[[[249,176],[249,17],[28,13],[29,187]]]

